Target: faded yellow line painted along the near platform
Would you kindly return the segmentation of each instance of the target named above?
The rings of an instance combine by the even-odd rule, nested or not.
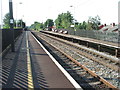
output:
[[[27,45],[28,90],[31,90],[31,89],[33,90],[34,85],[33,85],[33,78],[32,78],[32,69],[31,69],[27,31],[26,31],[26,45]]]

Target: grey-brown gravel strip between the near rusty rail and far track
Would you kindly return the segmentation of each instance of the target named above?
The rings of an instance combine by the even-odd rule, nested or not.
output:
[[[97,75],[103,77],[107,81],[109,81],[111,84],[115,85],[116,87],[120,88],[119,86],[119,75],[118,72],[99,64],[95,61],[92,61],[80,54],[78,54],[76,51],[76,48],[73,48],[71,46],[66,45],[65,43],[61,43],[57,40],[54,40],[52,38],[48,38],[45,35],[42,35],[41,33],[38,34],[40,37],[44,38],[46,41],[52,43],[53,45],[59,47],[59,49],[63,50],[68,55],[72,56],[75,60],[79,61],[81,64],[85,65],[90,70],[94,71]]]

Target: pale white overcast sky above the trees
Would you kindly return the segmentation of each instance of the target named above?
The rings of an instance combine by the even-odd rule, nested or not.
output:
[[[27,26],[35,21],[55,20],[58,14],[70,11],[78,22],[99,15],[102,24],[118,23],[120,0],[12,0],[15,20],[23,19]],[[73,7],[70,7],[70,6]],[[0,24],[9,12],[9,0],[0,0]]]

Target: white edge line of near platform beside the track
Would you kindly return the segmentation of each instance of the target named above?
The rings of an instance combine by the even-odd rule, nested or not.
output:
[[[33,35],[32,35],[33,36]],[[33,36],[34,37],[34,36]],[[46,48],[34,37],[37,43],[44,49],[44,51],[49,55],[52,61],[57,65],[57,67],[63,72],[63,74],[68,78],[68,80],[73,84],[77,90],[83,90],[81,86],[71,77],[71,75],[56,61],[56,59],[46,50]]]

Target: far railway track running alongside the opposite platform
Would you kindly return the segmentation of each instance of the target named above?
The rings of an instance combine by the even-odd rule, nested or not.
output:
[[[101,63],[101,64],[103,64],[103,65],[105,65],[105,66],[107,66],[107,67],[109,67],[109,68],[111,68],[115,71],[119,70],[119,59],[114,57],[114,56],[110,56],[110,55],[98,52],[96,50],[86,48],[86,47],[83,47],[81,45],[56,38],[54,36],[50,36],[50,35],[46,35],[46,34],[43,34],[43,35],[46,36],[46,37],[52,38],[53,40],[65,43],[66,45],[71,46],[72,49],[75,48],[75,51],[78,54],[81,54],[81,55],[83,55],[83,56],[85,56],[85,57],[87,57],[87,58],[89,58],[93,61]]]

